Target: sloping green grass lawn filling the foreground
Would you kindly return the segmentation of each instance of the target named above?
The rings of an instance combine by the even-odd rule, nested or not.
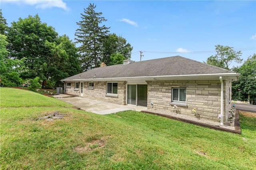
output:
[[[256,169],[256,117],[242,135],[137,111],[97,115],[27,90],[0,88],[1,169]],[[54,111],[63,119],[38,119]]]

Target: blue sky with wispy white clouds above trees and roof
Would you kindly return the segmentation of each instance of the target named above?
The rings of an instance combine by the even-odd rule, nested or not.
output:
[[[256,1],[85,1],[1,0],[8,22],[38,14],[59,35],[74,41],[76,22],[89,3],[102,12],[110,33],[124,37],[133,47],[131,59],[157,59],[180,55],[206,61],[214,45],[242,51],[246,60],[256,53]],[[231,66],[240,64],[232,63]]]

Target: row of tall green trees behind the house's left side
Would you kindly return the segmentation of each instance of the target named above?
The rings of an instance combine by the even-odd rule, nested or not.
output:
[[[114,65],[130,59],[133,47],[110,33],[103,24],[107,20],[95,8],[89,4],[81,14],[75,42],[59,36],[38,14],[19,18],[9,27],[0,10],[1,86],[21,86],[36,78],[46,81],[45,88],[55,88],[61,79],[99,67],[101,62]]]

